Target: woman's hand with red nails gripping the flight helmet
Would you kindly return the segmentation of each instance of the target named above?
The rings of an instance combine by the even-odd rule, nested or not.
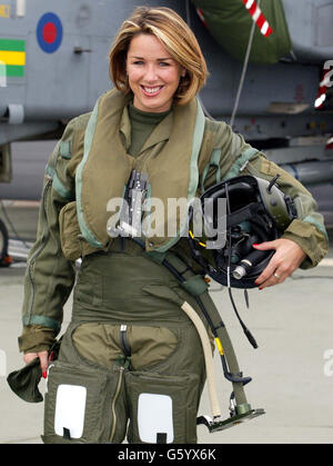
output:
[[[282,284],[305,259],[303,249],[291,239],[280,238],[253,245],[258,250],[275,249],[274,256],[263,272],[255,280],[259,289]]]

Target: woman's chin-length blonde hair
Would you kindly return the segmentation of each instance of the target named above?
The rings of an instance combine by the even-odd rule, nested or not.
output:
[[[204,86],[208,69],[194,33],[185,21],[170,8],[139,7],[120,27],[112,43],[110,78],[115,88],[124,93],[131,92],[127,78],[127,54],[134,36],[149,33],[157,37],[186,73],[180,79],[174,93],[179,105],[188,103]]]

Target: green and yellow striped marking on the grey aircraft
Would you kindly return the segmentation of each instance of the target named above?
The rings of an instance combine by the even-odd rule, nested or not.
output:
[[[0,39],[0,76],[23,77],[26,66],[26,41]]]

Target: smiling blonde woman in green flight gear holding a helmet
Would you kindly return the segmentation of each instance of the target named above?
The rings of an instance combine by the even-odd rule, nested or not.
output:
[[[193,198],[214,149],[223,178],[240,173],[250,146],[224,122],[203,119],[195,95],[208,75],[204,58],[172,10],[138,8],[123,22],[110,52],[110,75],[115,89],[101,96],[92,113],[68,125],[46,170],[20,349],[26,363],[39,357],[43,375],[49,370],[46,443],[121,443],[128,419],[130,443],[195,443],[204,359],[195,327],[172,296],[201,310],[159,259],[181,257],[183,271],[194,276],[186,240],[161,228],[161,235],[142,235],[144,250],[130,236],[117,236],[110,206],[127,195],[133,172],[147,175],[141,181],[163,206],[169,198]],[[255,246],[275,250],[258,278],[262,289],[299,266],[315,266],[326,239],[311,195],[261,152],[250,153],[242,173],[255,170],[272,179],[278,170],[280,188],[302,199],[304,208],[282,238]],[[209,170],[204,188],[214,182]],[[59,359],[48,363],[79,257],[72,321]],[[213,306],[206,291],[201,296]],[[152,407],[161,406],[167,420],[152,432]]]

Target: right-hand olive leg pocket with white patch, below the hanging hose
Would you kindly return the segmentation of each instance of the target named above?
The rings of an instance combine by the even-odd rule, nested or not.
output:
[[[125,374],[130,404],[129,443],[195,444],[199,376]]]

